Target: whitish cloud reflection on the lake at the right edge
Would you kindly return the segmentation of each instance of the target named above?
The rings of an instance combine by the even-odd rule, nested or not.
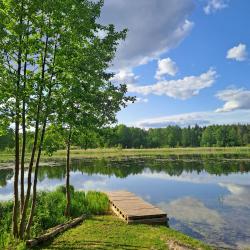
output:
[[[250,208],[250,185],[236,185],[233,183],[220,183],[230,192],[223,198],[223,203],[232,207]]]

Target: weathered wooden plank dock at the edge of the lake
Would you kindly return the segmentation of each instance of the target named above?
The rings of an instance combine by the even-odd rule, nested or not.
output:
[[[167,223],[167,214],[128,191],[106,192],[112,211],[127,223]]]

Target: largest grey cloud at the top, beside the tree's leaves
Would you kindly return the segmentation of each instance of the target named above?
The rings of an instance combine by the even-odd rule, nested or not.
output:
[[[193,0],[108,0],[100,22],[113,23],[118,30],[128,28],[114,60],[114,68],[133,68],[176,47],[191,31],[188,17]]]

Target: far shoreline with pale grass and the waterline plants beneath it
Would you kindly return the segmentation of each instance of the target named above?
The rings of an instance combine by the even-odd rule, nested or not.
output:
[[[29,157],[29,153],[27,154]],[[198,147],[198,148],[153,148],[153,149],[88,149],[71,151],[72,160],[93,160],[93,159],[114,159],[122,160],[123,158],[150,158],[150,157],[172,157],[172,156],[194,156],[194,157],[223,157],[225,161],[250,161],[250,147]],[[238,156],[238,157],[232,157]],[[232,157],[232,158],[231,158]],[[5,154],[0,152],[0,170],[14,169],[14,154]],[[66,151],[59,150],[52,156],[42,155],[40,166],[58,166],[66,159]],[[162,160],[165,160],[162,159]],[[158,159],[158,160],[161,160]],[[176,159],[174,159],[176,160]],[[179,159],[181,160],[181,159]],[[60,161],[60,162],[58,162]],[[25,168],[28,167],[28,162],[25,163]]]

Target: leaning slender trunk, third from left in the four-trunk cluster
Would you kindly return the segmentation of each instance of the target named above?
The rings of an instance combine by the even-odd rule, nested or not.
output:
[[[26,197],[24,200],[23,211],[22,211],[21,222],[20,222],[20,229],[19,229],[20,230],[19,237],[21,239],[24,238],[25,223],[26,223],[26,217],[27,217],[27,208],[29,205],[31,185],[32,185],[31,175],[32,175],[32,169],[33,169],[35,153],[36,153],[36,149],[37,149],[37,142],[38,142],[40,111],[41,111],[41,106],[42,106],[42,92],[44,89],[43,85],[44,85],[44,78],[45,78],[45,65],[46,65],[46,57],[47,57],[47,50],[48,50],[48,40],[49,40],[49,38],[47,36],[46,41],[45,41],[44,56],[43,56],[43,61],[42,61],[42,84],[40,86],[39,94],[38,94],[38,105],[37,105],[37,116],[36,116],[34,143],[33,143],[30,164],[29,164],[29,170],[28,170],[27,192],[26,192]]]

